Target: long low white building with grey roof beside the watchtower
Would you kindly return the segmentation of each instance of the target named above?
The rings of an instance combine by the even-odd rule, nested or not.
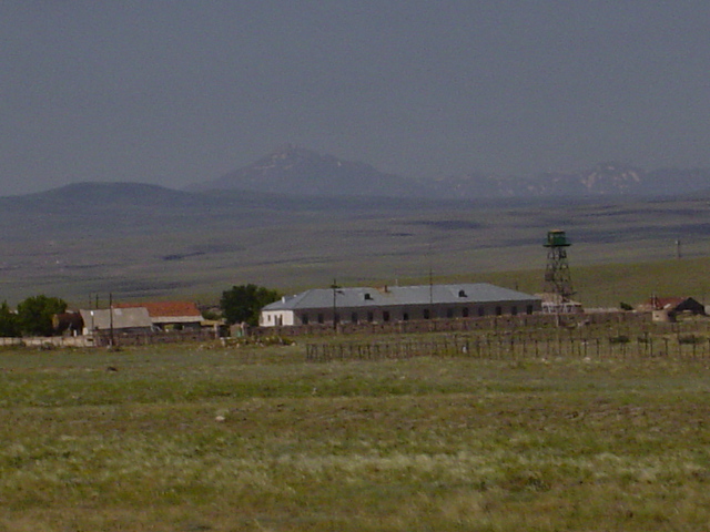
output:
[[[320,288],[266,305],[262,327],[338,323],[387,323],[532,314],[541,299],[488,283]]]

